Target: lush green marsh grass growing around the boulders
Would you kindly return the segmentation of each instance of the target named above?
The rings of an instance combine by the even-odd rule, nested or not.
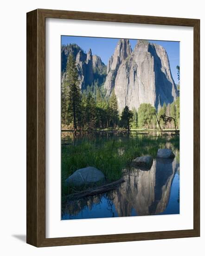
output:
[[[128,168],[134,158],[142,155],[156,157],[158,148],[165,148],[168,141],[173,145],[172,149],[179,149],[179,136],[171,139],[152,136],[114,139],[84,137],[75,146],[62,145],[62,197],[75,191],[64,181],[77,169],[96,167],[104,173],[108,182],[112,182],[122,177],[122,170]]]

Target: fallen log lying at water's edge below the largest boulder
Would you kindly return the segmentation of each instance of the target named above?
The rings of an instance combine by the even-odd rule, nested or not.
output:
[[[85,196],[102,194],[102,193],[108,192],[110,190],[117,189],[120,186],[120,184],[123,182],[125,182],[125,180],[122,178],[118,181],[110,182],[110,183],[104,184],[100,187],[85,189],[83,191],[67,195],[66,199],[67,199],[67,201],[74,201],[74,200],[81,199]]]

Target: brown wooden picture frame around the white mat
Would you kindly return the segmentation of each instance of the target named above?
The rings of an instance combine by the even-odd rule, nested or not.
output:
[[[193,27],[193,229],[45,238],[45,19],[73,19]],[[27,243],[37,247],[200,236],[200,20],[37,9],[27,13]]]

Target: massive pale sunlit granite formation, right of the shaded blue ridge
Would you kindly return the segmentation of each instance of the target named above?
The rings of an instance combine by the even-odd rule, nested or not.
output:
[[[127,40],[119,42],[122,46],[128,44]],[[130,46],[126,47],[129,50],[122,56],[118,48],[119,43],[109,61],[104,87],[107,95],[115,90],[120,112],[126,105],[138,109],[141,103],[150,103],[158,109],[164,102],[168,104],[176,99],[178,90],[167,52],[162,46],[138,40],[134,51],[131,52]]]

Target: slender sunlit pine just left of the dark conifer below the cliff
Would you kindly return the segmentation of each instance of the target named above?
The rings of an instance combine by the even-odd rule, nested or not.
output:
[[[116,125],[119,121],[119,113],[118,113],[118,104],[117,104],[117,98],[115,95],[115,90],[112,90],[112,93],[109,98],[109,108],[110,108],[110,121],[111,126],[116,128]]]

